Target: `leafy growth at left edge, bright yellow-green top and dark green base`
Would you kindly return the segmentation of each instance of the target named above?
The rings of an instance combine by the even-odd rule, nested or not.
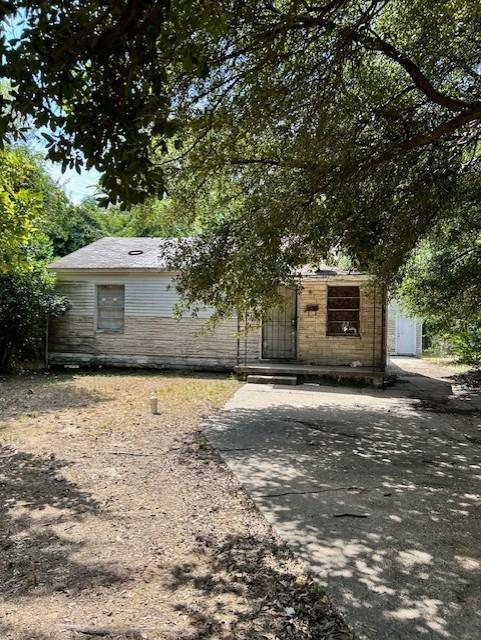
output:
[[[26,148],[0,151],[0,371],[39,359],[47,317],[67,308],[46,270],[48,228],[68,207],[39,157]]]

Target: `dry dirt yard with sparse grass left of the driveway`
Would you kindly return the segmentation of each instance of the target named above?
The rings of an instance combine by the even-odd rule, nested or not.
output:
[[[351,638],[198,431],[237,388],[0,378],[2,640]]]

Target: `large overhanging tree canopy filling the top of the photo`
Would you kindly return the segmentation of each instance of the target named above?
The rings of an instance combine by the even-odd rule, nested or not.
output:
[[[4,136],[95,165],[110,202],[204,216],[179,288],[259,308],[343,252],[388,283],[479,202],[479,0],[11,0]],[[197,213],[198,212],[198,213]]]

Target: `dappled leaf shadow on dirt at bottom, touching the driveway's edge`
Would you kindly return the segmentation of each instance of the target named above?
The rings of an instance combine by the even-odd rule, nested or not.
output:
[[[199,539],[202,571],[194,563],[177,566],[168,588],[187,587],[208,603],[205,608],[178,604],[192,632],[201,638],[323,638],[351,640],[352,634],[333,611],[316,583],[299,571],[291,552],[272,538],[229,536],[221,544]],[[243,604],[231,608],[231,595]],[[227,597],[226,597],[227,596]]]

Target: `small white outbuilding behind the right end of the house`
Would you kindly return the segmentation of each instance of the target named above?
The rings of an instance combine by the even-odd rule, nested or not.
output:
[[[387,352],[390,356],[416,356],[423,351],[423,324],[420,318],[407,316],[399,303],[391,300],[387,318]]]

